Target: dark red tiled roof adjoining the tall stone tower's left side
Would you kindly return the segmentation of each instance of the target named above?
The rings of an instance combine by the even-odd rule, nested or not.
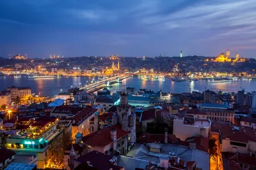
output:
[[[96,131],[88,136],[84,136],[83,143],[90,146],[107,146],[113,143],[113,139],[111,139],[111,129],[116,129],[116,139],[123,138],[129,134],[129,132],[122,129],[121,124],[116,124],[102,131]]]

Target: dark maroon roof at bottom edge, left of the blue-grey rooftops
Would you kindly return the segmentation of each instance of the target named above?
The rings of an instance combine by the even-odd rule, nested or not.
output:
[[[83,163],[90,163],[92,167],[95,167],[96,169],[100,170],[119,170],[122,167],[120,166],[115,166],[114,164],[111,164],[109,160],[113,159],[112,156],[110,155],[105,155],[104,153],[100,153],[97,151],[92,151],[89,153],[86,153],[85,155],[82,155],[81,157],[77,158],[77,162],[83,162]],[[100,164],[99,164],[100,161]]]

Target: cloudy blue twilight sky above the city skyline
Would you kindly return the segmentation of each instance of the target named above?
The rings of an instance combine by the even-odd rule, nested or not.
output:
[[[255,0],[0,1],[0,56],[256,58]]]

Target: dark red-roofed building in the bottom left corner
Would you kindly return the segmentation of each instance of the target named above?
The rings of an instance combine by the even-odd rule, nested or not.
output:
[[[0,169],[8,166],[15,159],[15,152],[6,148],[0,148]]]

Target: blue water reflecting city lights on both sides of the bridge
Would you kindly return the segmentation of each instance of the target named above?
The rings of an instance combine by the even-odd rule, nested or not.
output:
[[[54,96],[59,92],[65,92],[70,87],[79,87],[79,85],[85,85],[92,81],[91,77],[65,77],[49,78],[49,79],[33,79],[28,76],[21,76],[20,78],[14,78],[13,76],[0,76],[0,90],[6,89],[12,85],[16,87],[31,87],[32,92],[41,96]],[[95,78],[97,80],[97,78]],[[166,78],[164,81],[160,80],[142,80],[138,77],[127,78],[122,81],[123,83],[113,84],[113,88],[109,88],[111,92],[116,92],[125,89],[125,87],[135,87],[138,89],[151,89],[162,90],[163,92],[182,93],[189,92],[189,89],[199,90],[200,92],[207,89],[223,92],[237,92],[241,90],[241,87],[246,92],[256,90],[256,80],[233,80],[228,82],[223,81],[172,81]],[[81,83],[81,84],[80,84]]]

